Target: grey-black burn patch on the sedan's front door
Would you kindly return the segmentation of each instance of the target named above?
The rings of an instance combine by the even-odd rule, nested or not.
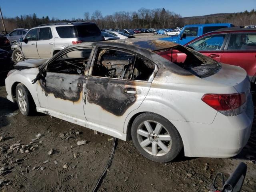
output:
[[[82,96],[84,76],[70,74],[51,74],[39,81],[45,96],[53,94],[55,98],[78,102]]]

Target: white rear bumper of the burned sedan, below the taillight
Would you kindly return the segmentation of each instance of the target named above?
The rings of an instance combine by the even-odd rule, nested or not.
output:
[[[228,158],[240,153],[248,142],[253,116],[250,95],[246,111],[238,116],[217,113],[212,124],[171,122],[180,132],[185,156]]]

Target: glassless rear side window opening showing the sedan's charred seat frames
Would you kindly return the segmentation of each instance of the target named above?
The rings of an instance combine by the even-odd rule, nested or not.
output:
[[[140,56],[111,49],[100,49],[92,75],[126,80],[147,81],[154,71],[154,64]]]

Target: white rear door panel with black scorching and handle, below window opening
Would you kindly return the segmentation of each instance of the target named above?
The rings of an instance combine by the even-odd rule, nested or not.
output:
[[[88,77],[83,91],[86,119],[123,132],[126,117],[140,106],[150,85],[150,82]]]

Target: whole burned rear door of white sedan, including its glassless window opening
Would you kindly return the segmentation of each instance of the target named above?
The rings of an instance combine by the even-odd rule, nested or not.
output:
[[[135,54],[99,49],[84,84],[86,119],[123,132],[126,117],[150,90],[153,71],[154,64]]]

